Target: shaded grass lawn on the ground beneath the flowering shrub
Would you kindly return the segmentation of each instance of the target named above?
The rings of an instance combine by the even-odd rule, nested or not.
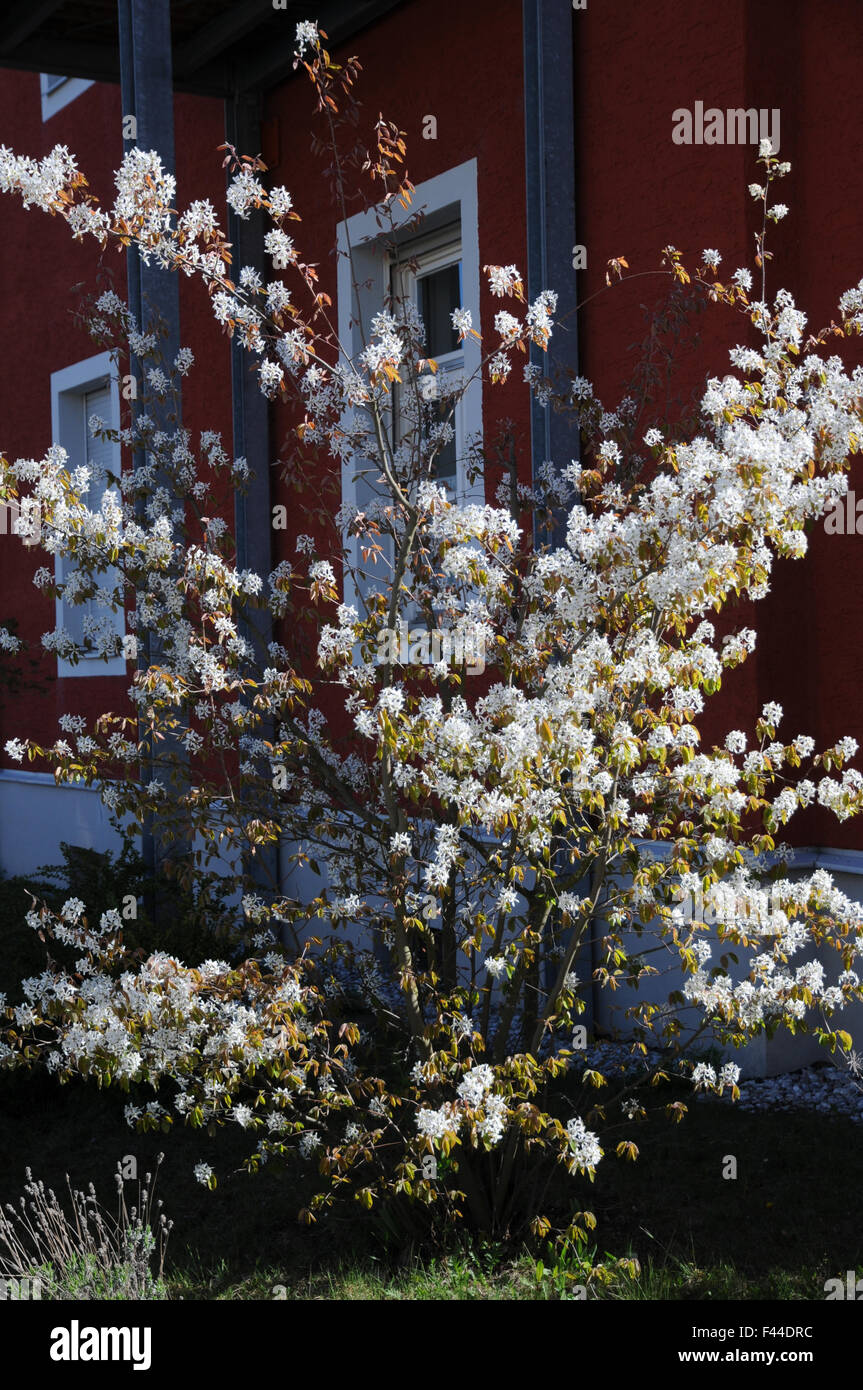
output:
[[[463,1238],[434,1254],[399,1250],[365,1213],[302,1227],[309,1169],[238,1170],[247,1151],[239,1131],[136,1134],[122,1118],[125,1101],[82,1081],[0,1079],[0,1200],[18,1198],[29,1166],[57,1193],[65,1173],[76,1187],[92,1182],[110,1207],[117,1161],[135,1155],[143,1175],[163,1151],[157,1195],[174,1220],[174,1298],[560,1298],[580,1279],[599,1298],[823,1300],[825,1279],[863,1272],[863,1134],[839,1118],[691,1104],[680,1126],[632,1126],[636,1163],[606,1156],[593,1186],[561,1173],[568,1186],[557,1201],[563,1193],[571,1209],[598,1218],[592,1262],[639,1262],[639,1273],[603,1284],[573,1266],[568,1277],[554,1272],[545,1248]],[[721,1176],[727,1155],[737,1158],[737,1179]],[[220,1172],[215,1193],[195,1182],[199,1159]]]

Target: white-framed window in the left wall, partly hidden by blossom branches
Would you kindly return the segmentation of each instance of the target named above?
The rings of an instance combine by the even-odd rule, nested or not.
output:
[[[96,512],[106,491],[111,488],[108,474],[120,477],[121,459],[120,445],[110,439],[93,438],[88,424],[92,416],[99,416],[113,428],[120,424],[120,392],[117,379],[111,375],[111,356],[107,352],[51,373],[53,441],[65,449],[69,470],[83,466],[90,468],[90,485],[85,502],[90,512]],[[74,563],[64,560],[63,556],[56,556],[54,573],[58,582],[63,582],[74,567]],[[114,577],[115,571],[107,570],[106,584],[110,585]],[[124,635],[122,613],[111,613],[96,599],[88,599],[85,603],[64,603],[61,598],[57,599],[57,627],[64,627],[78,646],[86,646],[85,617],[108,619],[120,637]],[[114,656],[106,662],[96,652],[86,651],[75,666],[63,657],[57,659],[58,676],[125,676],[126,669],[124,656]]]

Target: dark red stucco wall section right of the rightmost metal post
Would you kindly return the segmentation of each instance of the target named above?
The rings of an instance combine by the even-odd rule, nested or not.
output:
[[[760,182],[752,146],[675,145],[673,113],[756,107],[781,113],[780,156],[792,172],[777,202],[791,213],[770,234],[775,260],[769,297],[795,295],[820,328],[838,296],[863,275],[863,120],[853,74],[863,58],[863,13],[855,0],[807,6],[799,0],[728,0],[723,6],[632,4],[605,0],[574,15],[577,227],[588,249],[580,297],[582,371],[611,406],[632,370],[628,345],[645,336],[641,306],[653,306],[661,247],[693,263],[705,247],[721,270],[755,268]],[[605,289],[609,257],[625,256],[628,282]],[[639,275],[641,278],[635,278]],[[720,277],[721,278],[721,277]],[[752,339],[743,322],[710,310],[699,320],[700,350],[687,349],[675,379],[689,391],[706,374],[724,375],[725,350]],[[831,349],[837,350],[837,349]],[[856,343],[842,356],[860,360]],[[850,485],[863,496],[863,464]],[[863,746],[863,537],[819,528],[803,562],[780,562],[769,599],[739,623],[759,632],[756,656],[727,680],[706,734],[752,731],[767,699],[784,705],[780,737],[812,734],[819,746],[852,734]],[[791,830],[791,827],[789,827]],[[859,821],[795,817],[799,844],[863,845]]]

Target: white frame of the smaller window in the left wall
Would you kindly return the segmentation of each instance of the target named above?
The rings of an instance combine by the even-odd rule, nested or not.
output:
[[[114,363],[110,352],[96,353],[93,357],[85,357],[82,361],[76,361],[71,367],[63,367],[60,371],[51,373],[51,439],[54,443],[61,445],[61,448],[64,448],[68,453],[69,470],[82,467],[86,461],[85,431],[88,430],[88,423],[83,414],[83,398],[88,392],[97,391],[104,386],[110,386],[111,392],[111,418],[107,424],[111,425],[111,428],[120,428],[120,384],[114,374]],[[120,475],[121,455],[118,443],[114,445],[114,463],[115,467],[113,471]],[[113,570],[108,569],[106,575],[108,582],[111,573]],[[54,556],[54,577],[58,584],[63,584],[65,566],[64,559],[60,555]],[[57,627],[65,626],[64,610],[65,605],[63,599],[57,598]],[[111,614],[107,609],[103,609],[101,614],[107,619],[113,617],[114,628],[122,638],[125,635],[125,616],[122,610]],[[64,678],[86,676],[125,676],[126,673],[128,662],[122,655],[111,656],[106,662],[104,657],[97,656],[96,653],[88,653],[79,656],[75,666],[65,660],[65,657],[57,656],[57,676]]]

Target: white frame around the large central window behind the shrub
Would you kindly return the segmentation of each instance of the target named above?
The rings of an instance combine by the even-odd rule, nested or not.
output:
[[[470,309],[474,324],[479,328],[479,228],[477,208],[477,160],[466,160],[435,178],[417,183],[413,200],[409,207],[400,204],[393,207],[393,221],[396,231],[406,227],[409,220],[418,210],[425,213],[428,221],[439,220],[441,225],[459,222],[461,242],[461,295],[464,309]],[[431,231],[435,228],[432,227]],[[417,243],[420,245],[429,231],[420,227]],[[384,306],[385,297],[391,292],[391,257],[385,249],[386,231],[382,231],[374,208],[367,213],[356,213],[338,224],[336,245],[338,261],[338,324],[339,342],[346,354],[356,360],[361,352],[361,336],[359,317],[365,314],[368,320],[368,306],[377,311]],[[353,250],[357,284],[363,288],[365,303],[357,300],[352,285],[352,267],[347,247]],[[410,257],[410,242],[404,243],[406,257]],[[482,361],[482,348],[477,338],[467,336],[460,345],[464,363],[464,381],[468,384],[463,400],[456,410],[460,417],[457,425],[459,448],[459,491],[460,502],[485,502],[485,484],[478,477],[472,485],[464,481],[464,442],[471,436],[481,435],[482,431],[482,381],[479,366]],[[461,438],[459,439],[459,432]],[[342,502],[350,507],[357,506],[357,488],[354,468],[350,460],[342,463]],[[352,564],[360,567],[360,538],[345,537],[345,548],[350,555]],[[345,574],[345,602],[359,603],[356,585],[350,574]]]

